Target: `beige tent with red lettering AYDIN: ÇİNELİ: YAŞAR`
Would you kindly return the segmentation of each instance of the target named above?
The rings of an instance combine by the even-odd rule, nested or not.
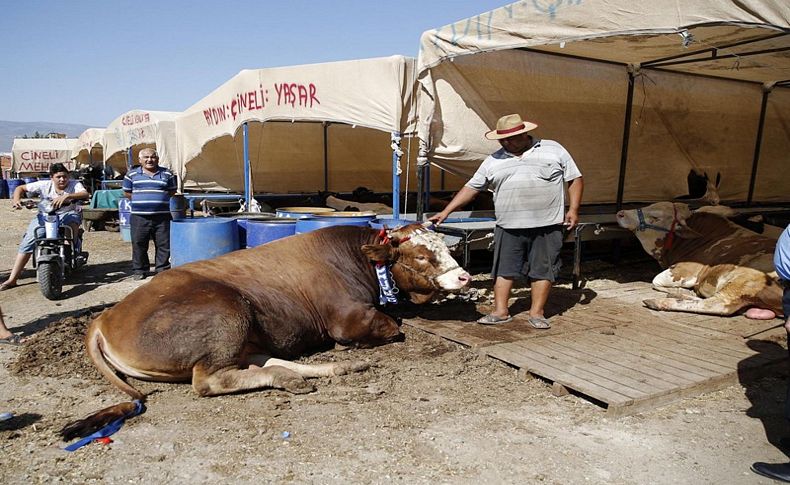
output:
[[[390,134],[415,129],[415,64],[393,56],[241,71],[176,119],[185,178],[243,190],[242,125],[257,122],[248,123],[256,192],[390,188]]]

